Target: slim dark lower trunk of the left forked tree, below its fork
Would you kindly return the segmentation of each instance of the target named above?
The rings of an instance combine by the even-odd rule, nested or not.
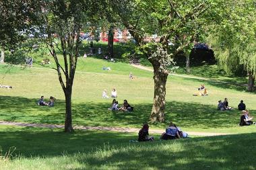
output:
[[[71,95],[72,95],[72,89],[71,89],[71,87],[69,87],[65,91],[65,104],[66,104],[65,132],[73,132],[73,127],[72,127],[72,110],[71,110]]]

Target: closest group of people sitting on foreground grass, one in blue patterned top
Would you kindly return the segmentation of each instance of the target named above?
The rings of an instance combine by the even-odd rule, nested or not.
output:
[[[154,137],[149,136],[148,130],[150,126],[144,124],[141,130],[139,130],[139,142],[143,141],[153,141]],[[170,125],[166,128],[165,132],[160,136],[160,140],[172,140],[177,138],[187,138],[189,135],[183,132],[181,128],[177,127],[175,124],[170,122]]]

